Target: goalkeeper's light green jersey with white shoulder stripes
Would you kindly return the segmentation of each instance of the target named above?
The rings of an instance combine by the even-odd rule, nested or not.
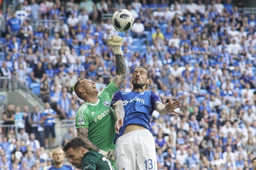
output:
[[[88,127],[88,139],[99,149],[104,151],[115,149],[116,117],[110,106],[112,95],[119,88],[110,82],[98,94],[96,103],[82,104],[76,113],[76,129]]]

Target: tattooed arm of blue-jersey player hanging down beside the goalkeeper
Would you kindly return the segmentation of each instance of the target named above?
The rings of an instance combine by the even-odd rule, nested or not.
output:
[[[116,124],[115,124],[115,130],[116,133],[119,134],[119,129],[120,127],[123,126],[124,124],[124,107],[123,107],[123,101],[122,100],[118,100],[117,102],[115,102],[114,104],[112,104],[112,108],[115,111],[116,114]]]

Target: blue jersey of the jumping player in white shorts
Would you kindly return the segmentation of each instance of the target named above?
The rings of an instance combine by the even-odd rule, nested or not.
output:
[[[123,101],[124,106],[124,125],[119,129],[119,135],[116,134],[116,139],[124,134],[126,126],[136,124],[145,127],[151,132],[150,117],[155,110],[155,102],[162,100],[154,92],[123,92],[117,91],[114,93],[111,105],[118,100]],[[115,139],[115,141],[116,141]],[[114,142],[115,142],[114,141]]]

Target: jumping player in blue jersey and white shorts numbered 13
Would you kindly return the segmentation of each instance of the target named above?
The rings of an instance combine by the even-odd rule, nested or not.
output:
[[[116,167],[132,170],[156,170],[156,148],[151,134],[150,117],[154,110],[159,113],[176,113],[179,100],[162,104],[150,85],[149,72],[137,67],[132,73],[132,91],[114,93],[111,105],[116,114]],[[135,156],[136,155],[136,156]]]

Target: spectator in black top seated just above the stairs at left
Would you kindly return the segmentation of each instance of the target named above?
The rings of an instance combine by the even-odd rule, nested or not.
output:
[[[41,62],[36,64],[36,67],[30,73],[30,76],[34,82],[42,83],[46,79],[44,67]]]

